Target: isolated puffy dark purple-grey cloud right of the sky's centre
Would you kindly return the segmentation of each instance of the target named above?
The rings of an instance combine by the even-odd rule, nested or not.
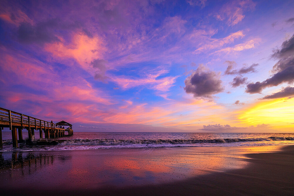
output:
[[[193,93],[194,97],[212,98],[212,95],[224,90],[220,74],[210,71],[208,68],[200,65],[185,80],[186,93]]]

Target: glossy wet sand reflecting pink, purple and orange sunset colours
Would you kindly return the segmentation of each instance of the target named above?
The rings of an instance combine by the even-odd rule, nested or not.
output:
[[[262,149],[264,148],[264,149]],[[130,148],[4,152],[0,188],[76,190],[156,185],[245,167],[244,152],[278,147]],[[46,182],[46,183],[44,183]]]

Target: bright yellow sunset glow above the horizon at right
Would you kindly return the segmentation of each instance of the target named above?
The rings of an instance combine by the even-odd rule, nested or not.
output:
[[[294,99],[262,100],[241,112],[238,118],[247,125],[270,124],[270,127],[294,128]],[[288,130],[291,131],[291,130]]]

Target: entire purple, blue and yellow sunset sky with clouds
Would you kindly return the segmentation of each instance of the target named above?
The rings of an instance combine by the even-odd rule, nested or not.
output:
[[[74,131],[294,132],[294,1],[0,2],[0,107]]]

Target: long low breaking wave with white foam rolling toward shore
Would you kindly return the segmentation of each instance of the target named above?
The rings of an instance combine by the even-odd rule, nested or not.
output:
[[[156,145],[156,144],[197,144],[197,143],[235,143],[235,142],[262,142],[262,141],[286,141],[293,137],[269,137],[269,138],[226,138],[226,139],[35,139],[25,140],[27,145]],[[12,140],[3,140],[3,144],[11,144]]]

